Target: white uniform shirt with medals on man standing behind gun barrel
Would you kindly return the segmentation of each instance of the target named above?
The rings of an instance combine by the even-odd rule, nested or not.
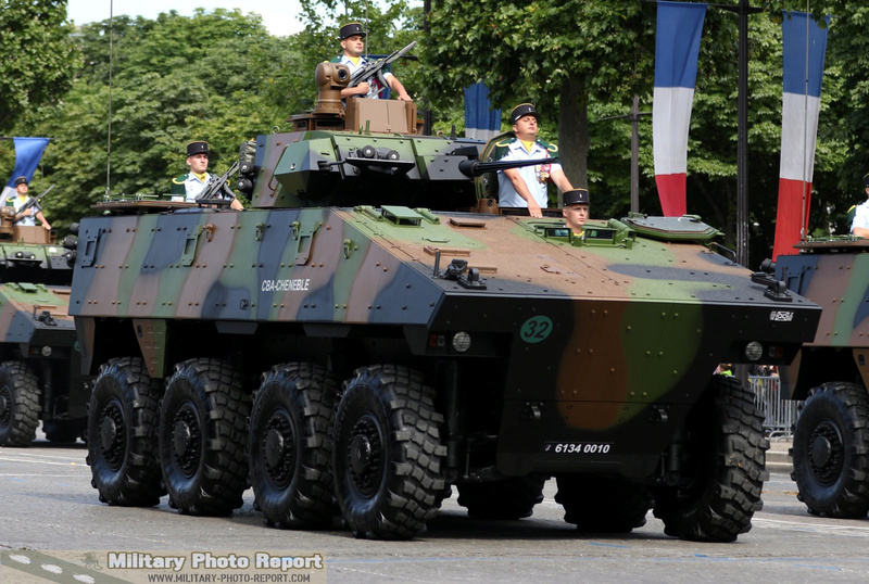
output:
[[[530,161],[540,158],[553,158],[558,155],[558,147],[547,144],[543,140],[537,140],[531,152],[525,149],[525,144],[516,137],[507,138],[495,144],[493,158],[496,161]],[[503,153],[503,155],[502,155]],[[562,165],[538,164],[534,166],[522,166],[516,168],[525,180],[528,191],[537,201],[541,208],[549,206],[549,178],[555,170],[561,170]],[[502,207],[527,207],[528,202],[519,196],[513,183],[504,176],[503,170],[498,173],[498,205]]]

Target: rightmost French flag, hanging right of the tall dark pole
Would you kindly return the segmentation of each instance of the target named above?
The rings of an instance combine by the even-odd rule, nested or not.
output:
[[[826,23],[830,23],[829,16]],[[782,37],[781,167],[772,257],[796,254],[794,244],[808,224],[827,27],[821,28],[805,12],[784,12]]]

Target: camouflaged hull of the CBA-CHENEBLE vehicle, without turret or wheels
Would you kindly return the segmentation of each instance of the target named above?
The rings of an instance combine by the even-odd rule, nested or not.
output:
[[[630,246],[574,245],[543,236],[559,219],[388,208],[417,225],[374,207],[85,219],[70,312],[88,340],[88,368],[123,347],[163,378],[182,358],[219,352],[207,340],[169,350],[193,329],[206,331],[197,339],[225,332],[224,348],[243,347],[254,372],[270,366],[262,356],[322,360],[324,345],[305,347],[306,338],[358,355],[345,357],[353,366],[377,356],[427,370],[456,358],[503,383],[502,472],[603,464],[642,477],[719,361],[744,361],[744,345],[759,341],[785,363],[818,317],[803,299],[765,299],[744,268],[694,243],[633,233]],[[619,221],[591,227],[630,231]],[[441,269],[466,259],[486,289],[433,278],[437,249]],[[127,323],[93,340],[103,319]],[[276,322],[292,327],[277,334]],[[353,326],[366,326],[364,342]],[[473,340],[462,354],[442,346],[458,331]],[[378,337],[385,346],[368,346]],[[582,459],[547,452],[562,441],[614,447]]]

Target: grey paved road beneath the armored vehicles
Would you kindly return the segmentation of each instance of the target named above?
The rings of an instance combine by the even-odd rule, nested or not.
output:
[[[530,519],[474,521],[455,497],[412,542],[354,539],[347,531],[266,528],[248,491],[229,518],[102,505],[90,486],[85,447],[0,448],[0,551],[318,551],[329,582],[855,582],[869,579],[869,520],[810,517],[781,473],[767,483],[764,511],[735,544],[664,535],[652,513],[629,535],[579,534],[562,521],[554,482]],[[5,580],[4,580],[5,581]]]

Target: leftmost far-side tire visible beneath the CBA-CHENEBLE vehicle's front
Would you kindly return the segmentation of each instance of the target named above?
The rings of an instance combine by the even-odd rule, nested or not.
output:
[[[468,516],[484,520],[514,520],[531,517],[534,505],[543,500],[542,474],[511,477],[487,483],[464,483],[458,488],[458,505]]]

